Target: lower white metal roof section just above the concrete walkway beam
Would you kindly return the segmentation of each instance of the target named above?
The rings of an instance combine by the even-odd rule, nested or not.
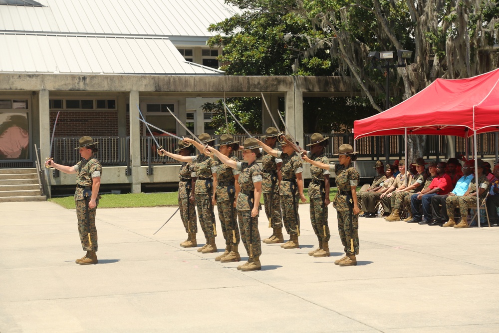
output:
[[[221,75],[185,61],[167,37],[1,33],[0,72]]]

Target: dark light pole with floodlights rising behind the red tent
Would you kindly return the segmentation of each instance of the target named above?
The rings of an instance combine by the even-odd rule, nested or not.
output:
[[[372,51],[367,58],[371,60],[371,68],[379,70],[385,69],[386,72],[386,99],[385,110],[390,108],[390,69],[407,66],[408,59],[412,56],[412,51],[397,50],[398,62],[395,62],[393,51]],[[384,61],[384,62],[383,62]],[[390,163],[390,136],[385,136],[385,165]]]

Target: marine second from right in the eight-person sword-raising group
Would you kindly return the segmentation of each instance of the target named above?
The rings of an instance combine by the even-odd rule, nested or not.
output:
[[[323,137],[320,133],[313,133],[310,137],[310,151],[306,151],[303,160],[308,162],[322,162],[329,164],[329,159],[325,156],[325,147],[329,144],[329,137]],[[310,165],[311,182],[308,184],[308,198],[310,199],[310,222],[312,229],[317,236],[319,246],[308,253],[312,257],[329,257],[329,226],[327,224],[327,206],[331,203],[329,199],[329,169],[322,169],[313,164]]]

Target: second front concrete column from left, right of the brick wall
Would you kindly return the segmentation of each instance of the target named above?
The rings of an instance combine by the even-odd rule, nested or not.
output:
[[[139,105],[139,92],[130,91],[130,158],[132,161],[132,193],[140,193],[140,124],[139,110],[135,105]]]

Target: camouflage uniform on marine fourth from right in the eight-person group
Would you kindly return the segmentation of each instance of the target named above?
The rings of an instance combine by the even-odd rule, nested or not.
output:
[[[271,147],[272,148],[272,147]],[[277,148],[273,148],[278,150]],[[281,163],[280,158],[276,158],[263,152],[261,166],[263,168],[263,181],[261,182],[261,195],[263,196],[263,207],[265,215],[271,221],[271,227],[282,228],[281,207],[279,197],[279,187],[277,179],[277,164]],[[270,209],[272,212],[270,212]]]

